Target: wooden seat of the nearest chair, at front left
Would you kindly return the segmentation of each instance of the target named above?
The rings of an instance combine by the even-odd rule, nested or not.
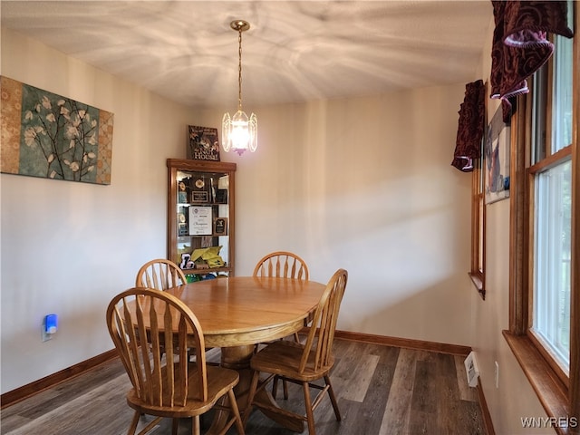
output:
[[[153,411],[154,415],[169,418],[188,418],[201,415],[209,411],[228,390],[233,388],[239,382],[239,374],[236,371],[224,369],[223,367],[207,366],[208,373],[208,400],[200,401],[195,398],[195,391],[199,391],[198,371],[195,370],[195,364],[191,364],[193,370],[189,372],[189,398],[185,406],[173,405],[168,408],[169,394],[163,395],[163,402],[166,406],[154,406],[140,398],[135,393],[135,389],[127,393],[127,403],[135,411],[148,414]],[[167,370],[163,368],[161,375],[166,376]],[[177,373],[177,372],[176,372]],[[176,376],[176,382],[179,382],[179,376]]]

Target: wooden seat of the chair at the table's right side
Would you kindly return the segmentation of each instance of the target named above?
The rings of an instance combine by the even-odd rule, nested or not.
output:
[[[333,357],[329,364],[314,370],[315,350],[308,354],[308,363],[304,372],[299,372],[304,354],[304,344],[290,341],[277,341],[268,344],[252,357],[250,366],[258,372],[268,372],[291,378],[300,382],[312,382],[326,375],[333,368]]]

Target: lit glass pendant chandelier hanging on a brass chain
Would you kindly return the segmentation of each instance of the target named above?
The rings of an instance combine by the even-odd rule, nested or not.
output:
[[[229,25],[238,33],[237,112],[231,118],[229,113],[224,114],[221,121],[221,137],[224,151],[232,150],[241,156],[245,150],[254,152],[257,148],[256,114],[252,113],[248,118],[246,112],[242,111],[242,32],[246,32],[250,24],[244,20],[235,20]]]

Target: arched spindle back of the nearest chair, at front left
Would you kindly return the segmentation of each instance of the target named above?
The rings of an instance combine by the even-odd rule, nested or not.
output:
[[[107,325],[142,401],[184,406],[189,394],[201,401],[208,399],[203,332],[198,319],[177,297],[155,289],[131,288],[111,300]],[[191,347],[195,347],[195,363],[188,359]],[[189,385],[191,370],[198,372],[196,388]]]

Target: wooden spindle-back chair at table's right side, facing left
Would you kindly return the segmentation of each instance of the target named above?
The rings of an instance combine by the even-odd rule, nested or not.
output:
[[[277,341],[268,344],[252,357],[250,366],[255,372],[252,376],[248,407],[244,413],[245,419],[247,419],[251,407],[256,405],[258,408],[268,412],[282,415],[291,414],[306,421],[308,433],[314,435],[316,433],[314,429],[314,410],[324,398],[324,392],[328,392],[336,420],[341,420],[329,372],[334,363],[334,331],[347,278],[346,270],[339,269],[326,285],[324,294],[321,296],[314,312],[314,320],[305,343]],[[260,372],[268,373],[268,376],[265,381],[260,383],[258,388]],[[277,378],[303,386],[305,415],[297,414],[294,411],[282,410],[271,404],[254,402],[256,391],[265,388],[268,382],[275,381]],[[324,379],[324,386],[314,383],[314,381],[320,379]],[[311,388],[320,390],[314,401],[311,401],[310,398]]]

